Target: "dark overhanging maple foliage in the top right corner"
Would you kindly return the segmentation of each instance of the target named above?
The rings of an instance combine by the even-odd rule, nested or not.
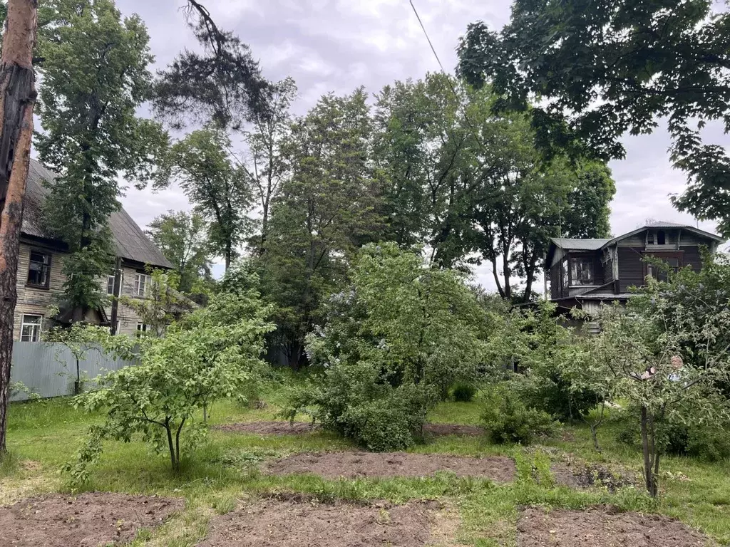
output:
[[[666,119],[670,158],[689,180],[675,205],[727,230],[730,161],[702,129],[730,121],[729,21],[712,0],[517,0],[502,31],[469,26],[460,71],[494,88],[496,109],[528,111],[548,155],[623,158],[625,133],[651,133]]]

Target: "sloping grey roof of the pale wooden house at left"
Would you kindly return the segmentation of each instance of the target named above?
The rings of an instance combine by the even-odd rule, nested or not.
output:
[[[55,179],[53,171],[49,171],[37,160],[31,159],[28,169],[28,186],[26,201],[23,210],[23,233],[26,236],[53,239],[44,229],[42,222],[42,207],[48,195],[48,189],[43,181],[52,182]],[[137,222],[129,214],[120,209],[109,217],[116,255],[134,260],[142,264],[151,264],[163,268],[172,268],[172,264],[150,241]]]

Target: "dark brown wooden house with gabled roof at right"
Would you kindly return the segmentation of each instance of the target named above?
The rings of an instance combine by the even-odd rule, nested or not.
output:
[[[714,233],[675,222],[652,222],[610,239],[553,238],[548,249],[550,298],[563,311],[579,308],[589,314],[602,303],[631,297],[647,276],[663,276],[643,260],[661,258],[677,270],[702,268],[701,247],[715,252],[723,239]]]

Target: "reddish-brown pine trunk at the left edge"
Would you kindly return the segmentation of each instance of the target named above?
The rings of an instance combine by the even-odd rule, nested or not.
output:
[[[7,451],[18,246],[31,157],[37,0],[9,0],[0,58],[0,457]]]

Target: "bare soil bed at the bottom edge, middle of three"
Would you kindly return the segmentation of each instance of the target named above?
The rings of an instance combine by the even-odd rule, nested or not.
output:
[[[261,500],[213,519],[199,547],[420,547],[435,505]]]

